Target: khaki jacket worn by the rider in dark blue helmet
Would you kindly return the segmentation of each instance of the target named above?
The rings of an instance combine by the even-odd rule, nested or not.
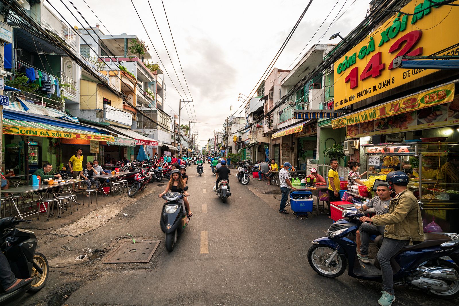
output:
[[[413,241],[424,241],[421,210],[418,200],[409,189],[391,200],[388,213],[372,217],[371,222],[386,225],[384,237],[409,240],[410,245]]]

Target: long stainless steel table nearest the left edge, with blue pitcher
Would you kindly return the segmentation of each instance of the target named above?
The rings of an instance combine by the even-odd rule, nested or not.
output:
[[[76,181],[76,182],[78,182],[78,181]],[[1,189],[1,192],[4,193],[4,194],[5,193],[8,194],[8,197],[10,198],[11,203],[13,203],[14,207],[16,208],[18,216],[21,217],[21,219],[23,219],[24,217],[32,216],[34,214],[39,214],[40,207],[38,206],[37,207],[37,211],[35,211],[35,212],[24,213],[22,215],[21,212],[19,211],[19,208],[18,208],[16,202],[13,199],[13,195],[22,195],[23,199],[22,199],[21,204],[25,204],[25,200],[27,198],[27,195],[36,192],[40,197],[39,201],[41,201],[41,200],[43,200],[43,198],[44,198],[43,194],[45,194],[45,193],[40,193],[39,191],[48,191],[49,189],[53,189],[53,188],[59,187],[57,192],[52,191],[54,196],[58,196],[59,194],[62,193],[62,188],[61,187],[66,186],[67,190],[70,190],[70,189],[68,189],[68,185],[74,184],[74,183],[75,182],[67,181],[67,182],[61,182],[61,183],[56,183],[56,184],[52,184],[52,185],[44,185],[44,184],[41,184],[41,185],[38,185],[38,186],[27,185],[27,186],[21,186],[21,187],[16,187],[16,188]],[[49,207],[47,209],[49,209]],[[37,220],[38,220],[38,217],[37,217]]]

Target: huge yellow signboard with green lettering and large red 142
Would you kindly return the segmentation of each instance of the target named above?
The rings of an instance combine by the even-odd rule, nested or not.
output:
[[[458,6],[412,0],[335,62],[335,110],[437,70],[394,68],[399,56],[459,55]],[[432,6],[428,9],[427,7]]]

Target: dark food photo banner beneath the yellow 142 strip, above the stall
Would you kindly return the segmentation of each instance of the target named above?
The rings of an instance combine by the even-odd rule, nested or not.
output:
[[[392,117],[348,125],[346,138],[439,128],[459,124],[459,96],[449,103],[430,106]]]

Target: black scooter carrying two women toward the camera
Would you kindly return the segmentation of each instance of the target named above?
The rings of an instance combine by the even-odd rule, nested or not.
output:
[[[185,186],[183,191],[188,190]],[[162,198],[167,202],[162,206],[161,230],[166,234],[166,250],[172,252],[177,238],[185,231],[186,228],[186,215],[185,205],[182,205],[179,200],[184,198],[183,192],[168,192]]]

